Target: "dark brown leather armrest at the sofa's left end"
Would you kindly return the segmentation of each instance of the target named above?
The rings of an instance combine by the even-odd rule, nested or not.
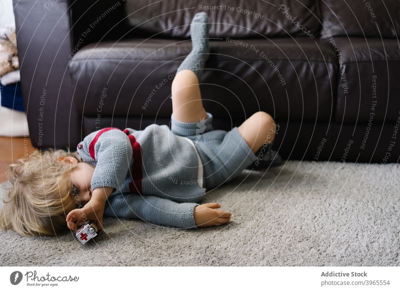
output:
[[[13,0],[21,88],[33,146],[70,146],[80,140],[72,105],[68,0]]]

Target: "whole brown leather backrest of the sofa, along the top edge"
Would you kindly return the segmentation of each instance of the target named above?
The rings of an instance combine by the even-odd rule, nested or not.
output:
[[[400,36],[399,0],[70,1],[73,42],[80,47],[125,37],[189,39],[199,11],[208,14],[214,38],[326,38],[326,30],[329,36]]]

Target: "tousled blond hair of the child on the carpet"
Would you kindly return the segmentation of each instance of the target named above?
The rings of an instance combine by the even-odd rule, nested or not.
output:
[[[0,228],[22,235],[54,235],[66,229],[65,217],[77,207],[73,199],[70,173],[77,164],[60,161],[77,152],[63,149],[33,151],[7,168],[10,187],[0,207]]]

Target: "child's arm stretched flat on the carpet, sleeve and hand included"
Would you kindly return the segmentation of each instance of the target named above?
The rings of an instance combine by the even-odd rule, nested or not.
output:
[[[108,199],[104,214],[124,218],[139,218],[154,224],[177,228],[221,225],[231,213],[215,209],[218,203],[177,203],[152,195],[123,193]]]

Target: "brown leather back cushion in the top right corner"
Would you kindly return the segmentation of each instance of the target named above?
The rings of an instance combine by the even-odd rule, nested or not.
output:
[[[400,36],[398,0],[325,0],[321,10],[323,27],[333,36]]]

